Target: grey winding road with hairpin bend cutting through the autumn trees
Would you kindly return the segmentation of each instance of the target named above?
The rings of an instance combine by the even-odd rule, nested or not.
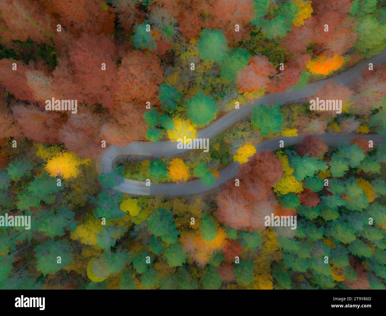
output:
[[[197,138],[212,138],[218,133],[224,131],[228,127],[230,127],[235,122],[240,119],[251,114],[252,109],[256,105],[261,104],[276,104],[276,103],[284,103],[292,100],[299,100],[306,97],[310,97],[315,94],[316,90],[322,87],[328,81],[332,81],[335,83],[349,85],[353,81],[357,80],[361,77],[363,68],[368,68],[369,63],[373,63],[374,68],[377,65],[381,65],[386,61],[386,49],[379,55],[376,55],[362,63],[350,68],[344,73],[335,76],[333,78],[322,80],[319,82],[311,83],[306,85],[302,90],[296,89],[287,89],[286,92],[283,93],[272,93],[264,95],[254,102],[248,103],[240,107],[240,109],[232,110],[228,112],[224,116],[220,117],[220,119],[216,120],[209,126],[201,129],[197,133]],[[339,141],[349,141],[352,138],[357,137],[358,134],[344,134],[344,133],[325,133],[322,135],[318,135],[318,137],[322,138],[327,144],[334,144]],[[278,137],[275,139],[270,139],[259,143],[256,146],[256,150],[275,150],[279,148],[279,141],[284,141],[284,146],[289,146],[301,141],[304,135],[299,135],[298,137]],[[364,135],[369,140],[374,142],[374,145],[381,143],[382,139],[378,135],[367,134]],[[99,173],[108,173],[112,170],[112,167],[117,161],[126,157],[132,156],[137,160],[145,160],[152,157],[166,157],[177,155],[179,153],[183,153],[188,149],[178,149],[177,143],[170,141],[159,141],[157,143],[150,142],[132,142],[124,147],[110,146],[105,154],[100,158],[98,164],[98,172]],[[154,184],[151,183],[149,187],[146,186],[146,182],[144,181],[136,181],[130,179],[124,179],[124,182],[116,187],[117,190],[134,195],[188,195],[188,194],[197,194],[201,192],[205,192],[207,190],[213,189],[220,185],[221,183],[229,180],[230,178],[235,177],[238,172],[238,162],[231,163],[227,167],[221,170],[220,176],[216,178],[216,182],[212,187],[207,187],[201,183],[201,180],[195,180],[185,183],[160,183]]]

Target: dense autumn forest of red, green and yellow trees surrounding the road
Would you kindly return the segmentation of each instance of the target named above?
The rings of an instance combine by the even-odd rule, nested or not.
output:
[[[31,217],[30,229],[0,226],[0,288],[385,289],[386,147],[363,136],[386,136],[386,66],[317,90],[341,114],[262,104],[207,153],[97,172],[109,146],[195,138],[236,102],[385,48],[381,0],[0,2],[0,215]],[[47,111],[52,97],[77,112]],[[358,135],[328,145],[326,132]],[[213,187],[234,161],[240,185]],[[134,196],[114,189],[125,177],[208,191]],[[266,227],[271,213],[297,228]]]

